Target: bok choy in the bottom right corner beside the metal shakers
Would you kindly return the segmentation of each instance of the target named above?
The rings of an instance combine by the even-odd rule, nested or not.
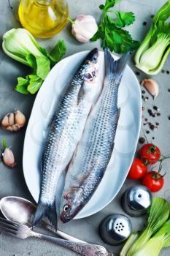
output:
[[[169,226],[169,224],[166,224],[166,227],[164,227],[165,223],[169,222],[167,221],[169,218],[169,209],[169,203],[165,199],[154,197],[148,211],[147,226],[142,233],[132,233],[125,246],[123,246],[120,256],[156,256],[156,254],[153,255],[151,253],[154,247],[153,241],[158,241],[157,252],[160,252],[163,246],[169,246],[170,234],[167,234],[167,226]],[[166,232],[163,233],[163,230]],[[161,236],[163,236],[164,242],[159,241],[159,239],[161,240]],[[155,240],[151,241],[152,238]],[[150,254],[147,255],[148,244],[150,244]]]

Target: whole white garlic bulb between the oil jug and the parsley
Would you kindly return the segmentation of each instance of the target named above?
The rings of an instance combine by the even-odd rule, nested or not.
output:
[[[72,34],[79,42],[88,42],[97,30],[96,20],[90,15],[78,15],[72,23]]]

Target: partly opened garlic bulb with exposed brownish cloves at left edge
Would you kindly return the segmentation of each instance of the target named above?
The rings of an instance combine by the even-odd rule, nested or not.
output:
[[[19,110],[14,113],[8,113],[1,121],[1,127],[10,132],[16,132],[26,124],[26,116]]]

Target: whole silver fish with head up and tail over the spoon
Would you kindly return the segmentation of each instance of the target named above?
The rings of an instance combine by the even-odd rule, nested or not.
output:
[[[51,121],[42,154],[41,192],[33,226],[45,216],[57,227],[55,194],[58,179],[72,159],[93,104],[98,84],[98,55],[95,48],[82,61]]]

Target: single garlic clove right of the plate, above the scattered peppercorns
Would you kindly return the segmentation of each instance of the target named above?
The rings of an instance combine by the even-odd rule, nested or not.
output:
[[[153,99],[158,96],[159,86],[158,83],[152,78],[142,80],[142,86],[144,86],[147,91],[152,95]]]

